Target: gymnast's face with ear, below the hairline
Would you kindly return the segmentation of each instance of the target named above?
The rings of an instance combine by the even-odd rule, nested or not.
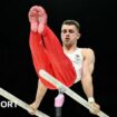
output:
[[[64,46],[77,46],[77,40],[80,33],[75,25],[62,25],[61,27],[61,41]]]

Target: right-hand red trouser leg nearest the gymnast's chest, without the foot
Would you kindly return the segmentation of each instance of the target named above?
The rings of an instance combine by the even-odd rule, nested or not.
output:
[[[76,72],[69,58],[64,53],[62,47],[49,27],[43,31],[45,47],[48,50],[53,74],[58,80],[70,87],[76,79]]]

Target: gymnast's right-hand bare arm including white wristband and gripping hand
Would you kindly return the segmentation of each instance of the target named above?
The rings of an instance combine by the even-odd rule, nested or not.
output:
[[[84,51],[84,66],[82,66],[82,78],[81,84],[84,91],[88,98],[90,107],[92,106],[95,109],[90,109],[91,114],[97,114],[100,109],[100,106],[96,104],[94,98],[94,85],[92,85],[92,71],[95,64],[95,55],[91,49],[87,49]]]

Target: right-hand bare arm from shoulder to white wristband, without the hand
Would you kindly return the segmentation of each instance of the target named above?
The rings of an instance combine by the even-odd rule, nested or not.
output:
[[[84,66],[82,66],[81,84],[87,98],[89,98],[89,97],[94,97],[94,86],[92,86],[91,75],[94,71],[95,56],[91,49],[85,50],[82,55],[85,59],[84,59]]]

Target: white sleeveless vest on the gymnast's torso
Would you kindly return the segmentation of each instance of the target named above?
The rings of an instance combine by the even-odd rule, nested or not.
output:
[[[77,82],[77,81],[79,81],[81,79],[81,68],[82,68],[82,61],[84,61],[81,50],[82,49],[77,48],[71,53],[65,52],[65,55],[71,60],[71,62],[72,62],[72,65],[75,67],[75,70],[76,70],[77,78],[76,78],[75,82]]]

